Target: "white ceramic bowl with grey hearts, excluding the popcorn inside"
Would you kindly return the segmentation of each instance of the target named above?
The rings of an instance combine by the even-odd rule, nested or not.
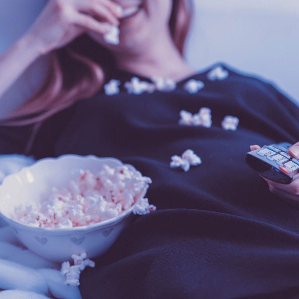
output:
[[[0,216],[26,247],[48,260],[62,262],[70,260],[72,254],[83,252],[89,258],[97,257],[118,238],[130,220],[134,205],[115,218],[76,228],[37,228],[17,222],[10,215],[21,202],[38,202],[51,193],[52,187],[65,187],[70,180],[77,179],[80,169],[98,173],[103,165],[115,168],[124,164],[115,158],[93,155],[41,159],[4,179],[0,185]],[[132,165],[125,165],[136,171]],[[147,188],[141,197],[146,191]]]

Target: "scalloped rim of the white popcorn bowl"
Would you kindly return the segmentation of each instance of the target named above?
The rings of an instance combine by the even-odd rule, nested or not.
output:
[[[131,164],[124,164],[122,161],[120,161],[117,158],[113,158],[113,157],[97,157],[95,155],[81,156],[81,155],[75,155],[75,154],[65,154],[65,155],[61,155],[61,156],[59,156],[57,158],[42,158],[42,159],[36,161],[33,165],[27,166],[27,167],[23,167],[17,173],[13,173],[13,174],[10,174],[10,175],[6,176],[4,178],[4,180],[2,181],[2,184],[0,185],[0,189],[5,187],[6,181],[8,181],[11,177],[14,177],[14,176],[16,176],[16,175],[18,175],[18,174],[20,174],[22,172],[26,172],[28,170],[34,170],[34,168],[38,167],[37,165],[45,164],[45,163],[47,163],[49,161],[59,161],[61,159],[68,158],[68,157],[72,157],[72,158],[76,158],[76,159],[95,159],[97,161],[99,161],[99,160],[112,160],[112,161],[120,163],[121,165],[131,167],[135,171],[137,171],[137,172],[140,173],[140,171],[136,170],[136,168],[133,165],[131,165]],[[142,196],[144,196],[146,192],[147,192],[147,188],[144,190],[144,193],[143,193]],[[107,226],[112,226],[114,224],[117,224],[120,221],[122,221],[124,218],[128,217],[132,213],[132,210],[133,210],[135,204],[132,205],[125,212],[123,212],[120,215],[118,215],[117,217],[114,217],[114,218],[111,218],[111,219],[108,219],[108,220],[105,220],[105,221],[102,221],[102,222],[90,224],[90,225],[77,226],[77,227],[74,227],[74,228],[41,228],[41,227],[34,227],[34,226],[23,224],[21,222],[18,222],[18,221],[14,220],[14,219],[11,219],[11,218],[5,216],[1,212],[1,203],[0,203],[0,217],[2,217],[4,219],[4,221],[6,221],[8,224],[13,225],[13,226],[17,226],[19,229],[23,229],[25,231],[32,231],[34,233],[41,233],[41,234],[52,234],[52,233],[59,234],[59,235],[61,235],[61,234],[69,234],[69,233],[74,234],[74,233],[79,233],[79,232],[82,232],[82,231],[91,232],[91,231],[95,231],[95,230],[98,230],[98,229],[101,229],[101,228],[106,228]]]

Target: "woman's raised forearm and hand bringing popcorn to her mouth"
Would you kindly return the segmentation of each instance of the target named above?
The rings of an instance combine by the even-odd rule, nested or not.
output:
[[[108,33],[121,7],[110,0],[50,0],[29,30],[0,55],[1,97],[39,56],[61,48],[86,31]]]

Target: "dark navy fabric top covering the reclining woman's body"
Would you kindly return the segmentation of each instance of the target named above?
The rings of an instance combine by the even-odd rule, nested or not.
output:
[[[111,156],[153,181],[147,197],[158,210],[134,216],[95,269],[83,271],[83,298],[299,298],[299,210],[244,162],[251,144],[299,141],[299,108],[271,84],[224,67],[225,80],[203,72],[170,93],[99,91],[42,125],[36,158]],[[188,94],[190,79],[205,87]],[[201,107],[212,111],[211,128],[178,124],[182,109]],[[226,115],[240,119],[237,131],[222,129]],[[170,168],[186,149],[202,165]]]

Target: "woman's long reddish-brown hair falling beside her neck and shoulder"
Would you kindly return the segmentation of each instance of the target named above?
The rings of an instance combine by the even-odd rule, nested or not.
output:
[[[182,56],[191,16],[192,1],[173,0],[169,29],[173,42]],[[51,67],[42,86],[1,121],[1,125],[31,124],[34,125],[33,132],[36,132],[45,119],[78,100],[93,96],[100,90],[105,76],[115,64],[109,50],[87,34],[83,34],[63,48],[52,51],[49,55]]]

